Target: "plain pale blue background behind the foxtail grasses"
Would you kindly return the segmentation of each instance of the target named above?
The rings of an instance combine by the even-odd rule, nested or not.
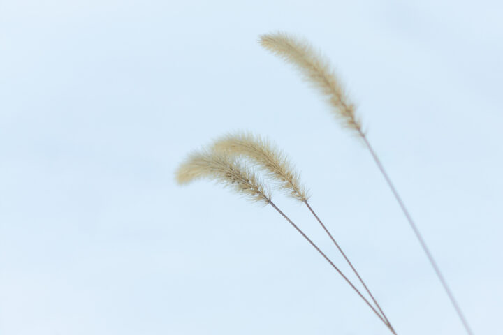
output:
[[[502,332],[500,1],[0,3],[0,334],[389,334],[271,207],[185,154],[289,153],[399,334],[465,334],[367,151],[259,47],[320,47],[476,334]],[[305,207],[277,204],[347,270]],[[352,278],[352,277],[351,277]]]

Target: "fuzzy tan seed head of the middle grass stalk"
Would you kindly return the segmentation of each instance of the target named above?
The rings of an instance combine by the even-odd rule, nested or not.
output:
[[[234,133],[215,141],[213,149],[251,159],[268,177],[278,182],[282,191],[296,200],[307,200],[298,172],[286,155],[273,147],[269,140],[251,133]]]

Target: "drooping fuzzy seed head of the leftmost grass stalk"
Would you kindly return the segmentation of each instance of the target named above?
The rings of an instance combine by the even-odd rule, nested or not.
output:
[[[201,178],[229,186],[245,195],[248,200],[264,204],[270,202],[270,191],[256,174],[235,157],[224,153],[196,151],[189,155],[176,172],[178,184],[188,184]]]

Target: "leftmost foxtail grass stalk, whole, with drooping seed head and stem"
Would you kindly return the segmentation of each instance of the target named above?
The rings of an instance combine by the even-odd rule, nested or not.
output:
[[[248,200],[270,204],[323,256],[323,258],[325,258],[335,271],[344,278],[344,281],[346,281],[358,296],[365,301],[365,304],[372,309],[379,320],[381,320],[393,334],[396,334],[393,327],[384,320],[383,316],[379,314],[374,306],[370,304],[358,288],[349,281],[347,276],[340,271],[332,260],[330,260],[330,258],[328,258],[328,256],[323,253],[323,251],[321,251],[321,249],[314,244],[314,242],[274,204],[274,202],[271,201],[269,188],[263,184],[263,181],[258,179],[257,175],[250,168],[240,163],[235,157],[221,152],[196,151],[190,154],[186,161],[180,165],[176,172],[176,179],[178,184],[189,184],[191,181],[202,178],[215,180],[220,184],[224,184],[224,186],[231,186],[235,192],[245,195]]]

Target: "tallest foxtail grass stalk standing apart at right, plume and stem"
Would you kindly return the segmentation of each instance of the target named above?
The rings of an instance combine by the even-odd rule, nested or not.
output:
[[[321,54],[315,52],[313,47],[307,43],[307,41],[300,40],[290,34],[265,34],[260,36],[260,43],[266,50],[272,52],[272,54],[275,54],[297,68],[302,77],[309,82],[309,84],[312,84],[315,89],[318,89],[321,95],[326,98],[330,108],[335,114],[335,117],[342,121],[342,126],[355,131],[356,135],[363,140],[365,147],[367,147],[368,151],[370,151],[374,163],[376,163],[379,171],[383,175],[384,179],[386,179],[386,184],[388,184],[388,187],[391,189],[395,200],[397,200],[400,205],[400,209],[402,209],[404,216],[407,218],[410,227],[421,244],[421,248],[423,248],[423,251],[430,261],[435,274],[437,274],[440,283],[442,283],[451,304],[453,305],[456,313],[458,313],[458,317],[460,318],[462,325],[465,327],[467,333],[472,335],[472,329],[469,327],[467,319],[462,313],[458,301],[455,300],[449,285],[447,285],[444,276],[437,265],[437,262],[433,258],[430,249],[421,235],[421,232],[419,232],[416,223],[412,219],[407,207],[405,207],[404,202],[398,194],[398,191],[396,191],[390,177],[388,177],[388,173],[384,169],[381,160],[370,145],[365,132],[362,130],[360,119],[356,117],[355,105],[347,98],[344,93],[344,89],[342,88],[342,84],[335,75],[329,62],[322,57]]]

